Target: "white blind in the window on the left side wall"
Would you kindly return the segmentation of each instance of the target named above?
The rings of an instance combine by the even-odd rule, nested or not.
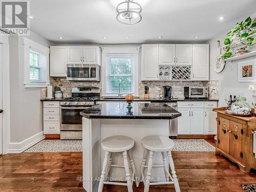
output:
[[[45,54],[30,49],[29,67],[31,82],[47,82],[47,56]]]

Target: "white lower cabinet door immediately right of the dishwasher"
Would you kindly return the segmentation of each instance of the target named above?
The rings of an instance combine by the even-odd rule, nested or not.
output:
[[[181,113],[181,116],[178,117],[178,134],[191,134],[190,108],[178,108],[178,111]]]

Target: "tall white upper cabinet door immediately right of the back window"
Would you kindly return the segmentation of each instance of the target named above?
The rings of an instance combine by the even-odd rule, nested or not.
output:
[[[158,45],[142,45],[141,80],[158,80]]]

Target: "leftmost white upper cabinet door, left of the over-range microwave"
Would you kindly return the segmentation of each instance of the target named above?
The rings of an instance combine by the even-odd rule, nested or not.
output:
[[[52,46],[50,47],[50,76],[66,77],[68,63],[68,47]]]

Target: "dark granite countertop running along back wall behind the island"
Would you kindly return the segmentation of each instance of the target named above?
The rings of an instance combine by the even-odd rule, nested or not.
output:
[[[64,101],[64,98],[57,98],[57,99],[41,99],[40,101]],[[65,100],[67,101],[67,100]],[[113,99],[113,98],[105,98],[105,99],[98,99],[96,101],[125,101],[125,99]],[[218,99],[208,99],[208,98],[175,98],[175,99],[160,99],[160,98],[135,98],[134,102],[136,101],[151,101],[151,102],[177,102],[177,101],[219,101]]]

